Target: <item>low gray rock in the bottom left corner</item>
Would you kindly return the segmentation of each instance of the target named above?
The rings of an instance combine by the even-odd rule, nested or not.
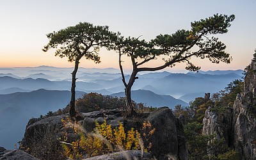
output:
[[[20,159],[27,159],[27,160],[39,160],[22,150],[6,150],[3,147],[0,147],[0,159],[5,160],[20,160]]]

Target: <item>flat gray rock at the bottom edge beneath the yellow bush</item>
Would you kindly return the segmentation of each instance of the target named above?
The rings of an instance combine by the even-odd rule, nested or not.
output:
[[[101,156],[95,156],[86,158],[83,160],[146,160],[151,159],[151,156],[147,152],[141,152],[140,150],[128,150],[124,152],[115,152],[111,154],[104,154]]]

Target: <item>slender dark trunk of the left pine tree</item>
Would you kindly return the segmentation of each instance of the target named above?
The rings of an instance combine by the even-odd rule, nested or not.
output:
[[[75,68],[72,72],[72,84],[71,84],[71,100],[70,100],[70,118],[76,117],[76,109],[75,109],[75,102],[76,102],[76,73],[78,70],[79,60],[75,61]]]

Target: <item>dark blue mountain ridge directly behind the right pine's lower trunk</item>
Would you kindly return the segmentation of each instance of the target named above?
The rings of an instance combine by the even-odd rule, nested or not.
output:
[[[125,93],[114,93],[111,96],[125,97]],[[169,108],[174,108],[174,106],[176,106],[177,104],[181,104],[182,106],[188,106],[188,103],[179,99],[175,99],[170,95],[157,95],[156,93],[148,90],[132,90],[131,97],[132,100],[137,103],[142,102],[147,106],[152,107],[167,106]]]

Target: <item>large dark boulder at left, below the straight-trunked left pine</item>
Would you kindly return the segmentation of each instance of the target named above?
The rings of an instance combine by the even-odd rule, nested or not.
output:
[[[20,149],[28,150],[29,154],[39,159],[65,159],[61,154],[63,147],[60,141],[63,141],[65,132],[68,138],[76,138],[74,131],[65,129],[61,122],[67,117],[68,115],[59,115],[29,120]]]

